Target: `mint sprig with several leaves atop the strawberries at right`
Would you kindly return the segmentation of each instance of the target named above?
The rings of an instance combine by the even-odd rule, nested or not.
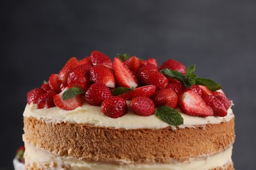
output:
[[[175,78],[182,82],[186,88],[190,88],[194,84],[207,86],[209,90],[216,91],[221,89],[221,84],[210,80],[208,78],[198,78],[197,75],[194,74],[196,70],[196,65],[190,65],[186,69],[186,75],[183,75],[179,71],[173,71],[171,69],[162,69],[160,73],[163,73],[164,75],[170,76],[171,78]]]

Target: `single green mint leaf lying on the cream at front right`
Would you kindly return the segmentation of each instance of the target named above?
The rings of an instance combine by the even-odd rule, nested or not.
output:
[[[179,126],[183,124],[183,118],[177,110],[172,109],[168,106],[161,106],[158,107],[155,110],[155,115],[163,120],[163,122],[166,122],[167,124],[173,125],[173,126]]]

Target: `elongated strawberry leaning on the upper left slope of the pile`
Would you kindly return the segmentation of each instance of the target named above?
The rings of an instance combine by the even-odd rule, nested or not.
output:
[[[78,61],[75,57],[70,58],[66,64],[64,65],[64,67],[60,70],[60,73],[58,73],[58,80],[60,80],[60,82],[67,82],[68,80],[68,75],[70,74],[70,72],[78,66]]]

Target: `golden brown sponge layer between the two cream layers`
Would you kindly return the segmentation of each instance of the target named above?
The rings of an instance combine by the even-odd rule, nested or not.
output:
[[[234,143],[234,118],[221,124],[163,129],[114,129],[24,118],[26,140],[37,146],[91,161],[169,162],[221,152]]]

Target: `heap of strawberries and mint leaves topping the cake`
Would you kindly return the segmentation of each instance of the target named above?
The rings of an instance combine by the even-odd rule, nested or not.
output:
[[[190,116],[226,116],[231,101],[221,85],[199,78],[195,69],[196,65],[186,68],[174,59],[159,67],[154,58],[128,54],[117,54],[112,62],[93,51],[81,60],[69,59],[58,74],[28,92],[27,102],[37,109],[63,110],[86,103],[101,106],[101,112],[110,118],[119,118],[130,108],[138,116],[155,114],[172,126],[184,123],[178,107]]]

